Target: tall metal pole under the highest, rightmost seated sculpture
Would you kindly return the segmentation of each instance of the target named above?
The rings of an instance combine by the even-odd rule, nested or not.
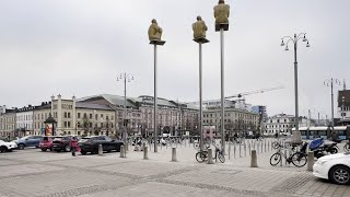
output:
[[[224,141],[224,113],[225,113],[225,106],[224,106],[224,36],[223,36],[223,28],[220,28],[220,45],[221,45],[221,151],[224,154],[225,152],[225,141]]]

